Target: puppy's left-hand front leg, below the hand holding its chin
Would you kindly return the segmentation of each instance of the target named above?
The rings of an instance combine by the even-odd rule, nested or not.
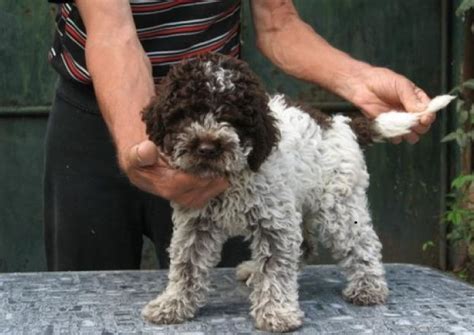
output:
[[[205,303],[209,270],[219,262],[225,240],[207,218],[174,223],[168,286],[142,311],[145,319],[157,324],[181,323]]]

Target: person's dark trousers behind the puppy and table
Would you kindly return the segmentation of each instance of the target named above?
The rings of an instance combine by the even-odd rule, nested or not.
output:
[[[154,242],[160,267],[168,267],[168,201],[130,184],[93,91],[65,80],[48,120],[44,224],[49,270],[137,269],[143,235]],[[248,245],[231,239],[220,266],[248,257]]]

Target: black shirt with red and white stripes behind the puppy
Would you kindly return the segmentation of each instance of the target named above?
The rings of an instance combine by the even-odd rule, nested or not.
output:
[[[166,75],[170,65],[185,58],[207,52],[239,55],[240,0],[131,0],[130,6],[155,81]],[[86,40],[76,6],[61,4],[49,61],[60,75],[90,84]]]

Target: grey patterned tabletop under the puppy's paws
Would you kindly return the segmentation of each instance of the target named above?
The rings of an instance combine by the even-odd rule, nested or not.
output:
[[[344,302],[337,267],[311,266],[300,276],[306,314],[298,334],[474,334],[474,287],[436,270],[386,266],[385,306]],[[213,272],[209,303],[197,317],[155,326],[142,306],[166,284],[164,271],[0,274],[1,334],[249,334],[248,289],[232,269]]]

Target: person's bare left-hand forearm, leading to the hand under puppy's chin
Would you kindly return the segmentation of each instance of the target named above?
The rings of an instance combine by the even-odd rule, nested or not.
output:
[[[120,153],[146,139],[140,112],[154,95],[154,84],[128,1],[118,4],[114,0],[114,14],[104,12],[104,16],[97,17],[102,6],[104,10],[112,7],[104,6],[107,1],[94,5],[90,0],[76,3],[88,32],[87,68],[101,113]]]

